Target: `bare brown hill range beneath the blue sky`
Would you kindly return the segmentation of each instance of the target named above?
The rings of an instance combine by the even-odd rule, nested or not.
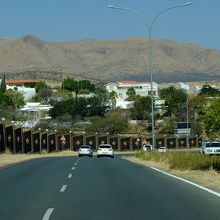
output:
[[[35,36],[0,39],[0,73],[7,79],[60,81],[64,76],[98,81],[150,80],[148,39],[47,42]],[[220,79],[220,51],[153,40],[156,82]]]

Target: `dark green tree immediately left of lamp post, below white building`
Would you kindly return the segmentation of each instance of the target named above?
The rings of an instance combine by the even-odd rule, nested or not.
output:
[[[135,120],[146,120],[150,118],[151,98],[149,96],[137,96],[133,107],[130,108],[130,117]]]

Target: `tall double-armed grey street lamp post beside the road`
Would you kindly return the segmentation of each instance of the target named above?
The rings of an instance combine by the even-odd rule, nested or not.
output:
[[[152,147],[153,149],[155,148],[155,124],[154,124],[154,91],[153,91],[153,71],[152,71],[152,30],[154,27],[154,24],[156,23],[156,21],[158,20],[158,18],[160,17],[161,14],[163,14],[164,12],[171,10],[171,9],[175,9],[175,8],[181,8],[181,7],[186,7],[186,6],[190,6],[192,3],[188,2],[185,3],[183,5],[177,5],[177,6],[173,6],[173,7],[169,7],[166,8],[164,10],[162,10],[160,13],[158,13],[154,19],[153,22],[149,25],[147,23],[147,20],[145,19],[145,17],[138,11],[133,10],[131,8],[124,8],[124,7],[116,7],[113,5],[107,5],[108,8],[111,9],[119,9],[119,10],[125,10],[125,11],[130,11],[132,13],[135,13],[136,15],[138,15],[144,22],[144,24],[147,27],[148,30],[148,37],[149,37],[149,44],[148,44],[148,61],[149,61],[149,71],[150,71],[150,82],[151,82],[151,124],[152,124]]]

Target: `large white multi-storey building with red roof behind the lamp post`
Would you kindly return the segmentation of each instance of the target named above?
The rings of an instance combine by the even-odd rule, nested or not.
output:
[[[137,81],[117,81],[114,83],[108,83],[106,90],[116,93],[116,107],[123,109],[130,108],[133,104],[132,101],[126,101],[128,95],[126,94],[128,89],[133,88],[136,95],[150,96],[151,95],[151,83],[150,82],[137,82]],[[158,98],[158,84],[153,82],[153,94],[155,98]]]

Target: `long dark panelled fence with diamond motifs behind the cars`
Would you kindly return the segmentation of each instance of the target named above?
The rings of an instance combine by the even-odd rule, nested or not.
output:
[[[97,133],[94,135],[79,135],[74,133],[57,134],[55,131],[24,130],[13,125],[0,124],[0,153],[6,150],[12,153],[41,153],[63,150],[77,151],[82,144],[90,145],[94,150],[102,143],[111,144],[115,150],[138,150],[143,144],[152,143],[151,137],[140,134],[109,135]],[[187,144],[188,143],[188,144]],[[190,148],[200,147],[201,137],[163,137],[156,139],[156,147]]]

